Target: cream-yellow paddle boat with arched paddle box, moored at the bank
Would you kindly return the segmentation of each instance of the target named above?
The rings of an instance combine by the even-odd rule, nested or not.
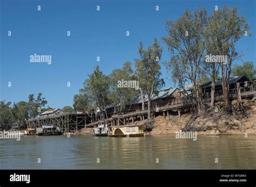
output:
[[[110,126],[109,136],[144,136],[143,125],[116,125]]]

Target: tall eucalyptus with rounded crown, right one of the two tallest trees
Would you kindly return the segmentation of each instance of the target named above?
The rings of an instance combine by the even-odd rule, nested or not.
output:
[[[232,72],[232,63],[235,59],[241,57],[235,45],[243,36],[250,36],[249,26],[244,17],[238,15],[237,8],[228,8],[215,10],[207,20],[205,35],[207,47],[215,55],[226,56],[225,60],[218,61],[221,69],[221,82],[223,95],[225,98],[225,110],[231,113],[230,93],[228,80]]]

